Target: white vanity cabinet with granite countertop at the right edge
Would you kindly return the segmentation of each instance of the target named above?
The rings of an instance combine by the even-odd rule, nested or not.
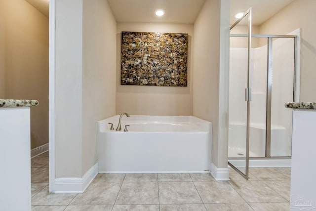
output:
[[[290,210],[316,210],[316,103],[293,108]]]

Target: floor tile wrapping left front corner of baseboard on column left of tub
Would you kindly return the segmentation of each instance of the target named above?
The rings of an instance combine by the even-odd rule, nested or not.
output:
[[[48,186],[32,197],[32,205],[69,205],[77,194],[49,193]]]

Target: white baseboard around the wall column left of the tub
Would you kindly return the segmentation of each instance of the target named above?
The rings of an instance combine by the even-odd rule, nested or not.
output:
[[[96,163],[82,178],[57,178],[54,193],[83,193],[97,174],[98,164]]]

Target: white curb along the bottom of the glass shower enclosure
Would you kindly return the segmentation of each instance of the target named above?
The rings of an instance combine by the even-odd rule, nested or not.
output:
[[[245,160],[234,160],[234,166],[242,168]],[[249,160],[249,168],[291,167],[291,159],[258,159]],[[230,168],[230,167],[229,167]]]

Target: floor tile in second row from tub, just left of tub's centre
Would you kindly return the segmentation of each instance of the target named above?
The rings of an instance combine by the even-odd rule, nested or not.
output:
[[[158,182],[123,182],[115,204],[158,205]]]

